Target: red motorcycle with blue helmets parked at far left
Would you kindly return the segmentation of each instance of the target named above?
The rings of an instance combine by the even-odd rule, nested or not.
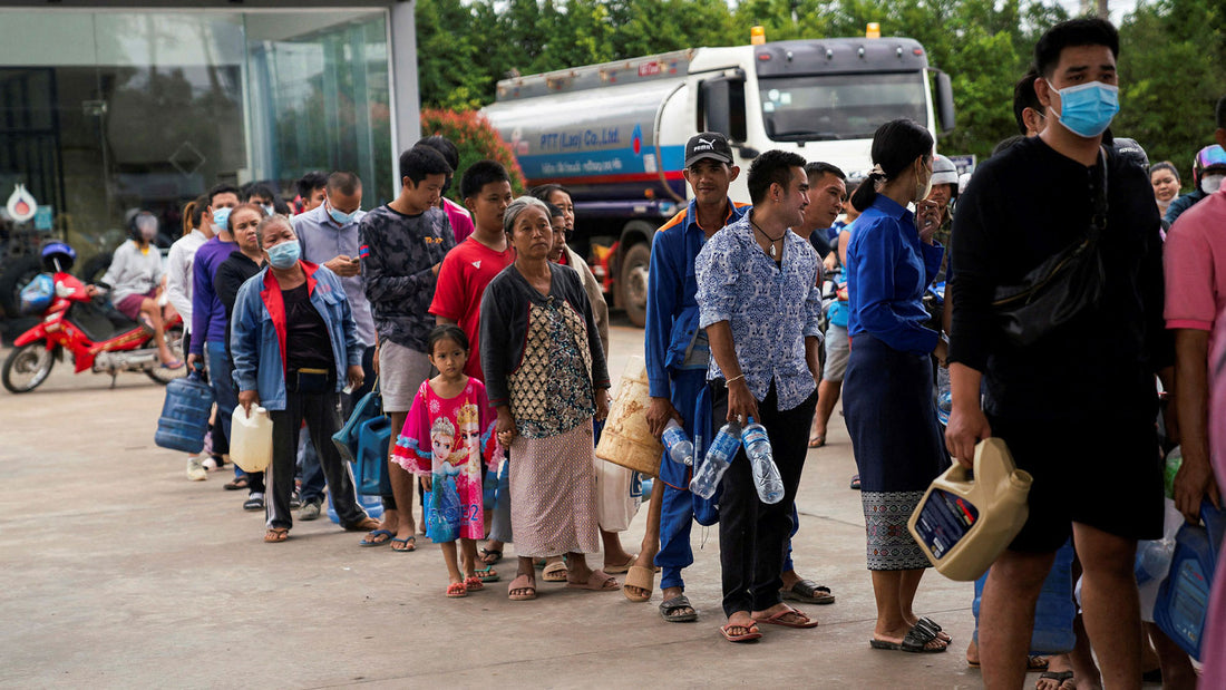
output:
[[[142,371],[162,385],[183,376],[186,368],[162,366],[151,327],[107,306],[104,300],[97,304],[88,286],[67,272],[75,259],[76,252],[64,243],[43,249],[44,262],[54,268],[51,294],[44,299],[49,304],[40,311],[42,321],[13,341],[4,363],[4,387],[15,393],[37,389],[51,373],[55,360],[64,359],[65,351],[72,355],[77,374],[86,369],[110,374],[112,387],[121,371]],[[173,314],[164,321],[164,328],[167,346],[181,358],[183,319]]]

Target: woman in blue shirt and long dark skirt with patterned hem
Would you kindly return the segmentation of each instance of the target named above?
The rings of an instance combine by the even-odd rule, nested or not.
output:
[[[856,449],[877,598],[872,646],[944,652],[949,636],[912,612],[923,569],[907,520],[948,464],[932,401],[929,354],[945,343],[924,327],[924,289],[944,250],[932,239],[935,213],[922,200],[932,186],[932,135],[911,120],[881,125],[873,172],[851,202],[862,211],[847,244],[847,332],[851,359],[843,414]],[[907,211],[916,203],[921,223]]]

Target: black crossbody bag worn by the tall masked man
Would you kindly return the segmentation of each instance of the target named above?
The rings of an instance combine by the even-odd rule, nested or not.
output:
[[[1032,344],[1102,300],[1106,271],[1098,241],[1107,229],[1105,150],[1098,157],[1098,179],[1091,180],[1094,213],[1085,238],[1031,270],[1021,284],[997,287],[992,306],[1010,343]]]

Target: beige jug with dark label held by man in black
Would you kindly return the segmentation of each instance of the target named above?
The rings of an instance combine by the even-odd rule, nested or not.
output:
[[[928,487],[907,528],[938,572],[950,580],[977,580],[1026,522],[1032,482],[1029,472],[1016,468],[1003,440],[984,439],[975,446],[973,477],[954,463]],[[948,534],[959,528],[961,537],[949,544]],[[934,533],[944,536],[942,544],[933,543]]]

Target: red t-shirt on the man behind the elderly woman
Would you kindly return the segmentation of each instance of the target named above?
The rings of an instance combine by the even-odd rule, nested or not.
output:
[[[468,364],[463,373],[484,382],[481,369],[481,298],[494,276],[515,261],[515,250],[508,244],[505,251],[494,251],[470,237],[457,244],[439,267],[439,282],[434,288],[430,314],[452,319],[468,336]]]

